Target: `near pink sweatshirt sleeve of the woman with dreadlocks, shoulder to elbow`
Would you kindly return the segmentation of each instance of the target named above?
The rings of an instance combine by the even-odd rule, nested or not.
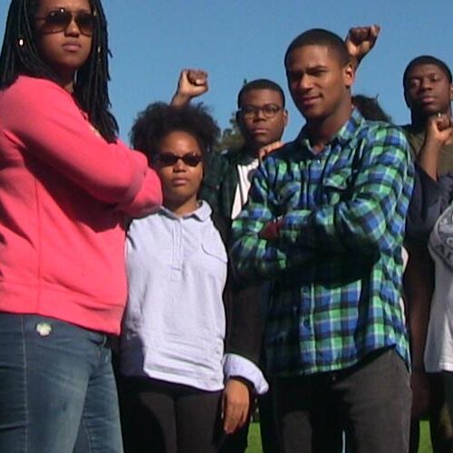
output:
[[[21,82],[5,93],[2,103],[2,129],[8,139],[94,198],[110,204],[134,198],[148,169],[146,157],[120,141],[101,138],[55,83]]]

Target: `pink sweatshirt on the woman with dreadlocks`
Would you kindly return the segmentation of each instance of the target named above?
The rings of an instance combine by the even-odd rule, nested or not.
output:
[[[161,203],[146,157],[109,144],[56,83],[0,92],[0,311],[119,333],[124,214]]]

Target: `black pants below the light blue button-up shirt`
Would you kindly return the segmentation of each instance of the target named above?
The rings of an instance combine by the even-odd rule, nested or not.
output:
[[[215,453],[224,441],[221,391],[139,378],[119,390],[126,453]]]

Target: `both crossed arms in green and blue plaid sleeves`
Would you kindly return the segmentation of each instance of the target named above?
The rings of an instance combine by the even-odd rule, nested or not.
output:
[[[232,254],[239,274],[247,280],[291,272],[319,253],[370,255],[395,246],[397,232],[389,234],[389,225],[395,216],[405,214],[409,201],[405,192],[410,191],[413,173],[400,130],[388,128],[382,140],[364,150],[351,198],[283,213],[275,236],[270,237],[263,230],[283,208],[272,181],[287,172],[278,170],[275,162],[268,158],[258,170],[246,209],[233,223]],[[400,224],[402,229],[404,218]]]

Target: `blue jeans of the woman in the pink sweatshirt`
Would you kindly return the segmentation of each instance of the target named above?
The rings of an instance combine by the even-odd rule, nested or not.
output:
[[[122,452],[106,335],[0,313],[0,451]]]

